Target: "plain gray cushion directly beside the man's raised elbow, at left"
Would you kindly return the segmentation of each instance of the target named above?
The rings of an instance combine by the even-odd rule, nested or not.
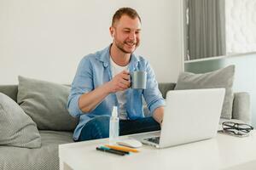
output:
[[[66,108],[69,91],[61,84],[19,77],[17,102],[39,130],[73,131],[78,120]]]

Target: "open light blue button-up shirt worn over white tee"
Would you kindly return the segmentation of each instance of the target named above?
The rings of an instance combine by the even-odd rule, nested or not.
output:
[[[82,128],[91,118],[102,115],[111,116],[113,105],[118,105],[117,97],[113,93],[103,99],[93,111],[84,113],[79,109],[79,97],[82,94],[89,93],[95,88],[102,86],[105,82],[111,81],[112,72],[109,50],[110,46],[95,54],[88,54],[79,63],[67,101],[67,110],[70,115],[79,117],[79,125],[75,128],[73,134],[74,140],[79,139]],[[151,114],[156,108],[165,105],[165,100],[160,94],[158,83],[154,77],[154,71],[146,59],[136,54],[131,54],[128,70],[129,72],[147,71],[146,89],[128,88],[125,91],[125,108],[129,119],[134,120],[144,117],[143,97]]]

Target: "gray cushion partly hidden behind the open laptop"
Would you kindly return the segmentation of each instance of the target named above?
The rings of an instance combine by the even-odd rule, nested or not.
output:
[[[232,105],[234,99],[234,94],[232,91],[234,75],[235,65],[230,65],[217,71],[207,72],[204,74],[183,72],[178,77],[175,90],[195,88],[225,88],[226,92],[221,117],[230,119],[232,117]]]

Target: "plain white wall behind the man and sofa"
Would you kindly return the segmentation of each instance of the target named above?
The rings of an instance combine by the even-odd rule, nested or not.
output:
[[[85,54],[111,42],[117,8],[136,8],[143,22],[137,54],[151,63],[159,82],[183,70],[180,0],[0,0],[0,84],[17,76],[70,83]]]

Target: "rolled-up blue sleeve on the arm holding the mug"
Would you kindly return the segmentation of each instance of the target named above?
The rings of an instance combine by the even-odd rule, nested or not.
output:
[[[92,67],[89,57],[84,57],[73,79],[71,91],[67,99],[67,110],[71,116],[79,117],[84,112],[79,108],[79,98],[93,89]]]

